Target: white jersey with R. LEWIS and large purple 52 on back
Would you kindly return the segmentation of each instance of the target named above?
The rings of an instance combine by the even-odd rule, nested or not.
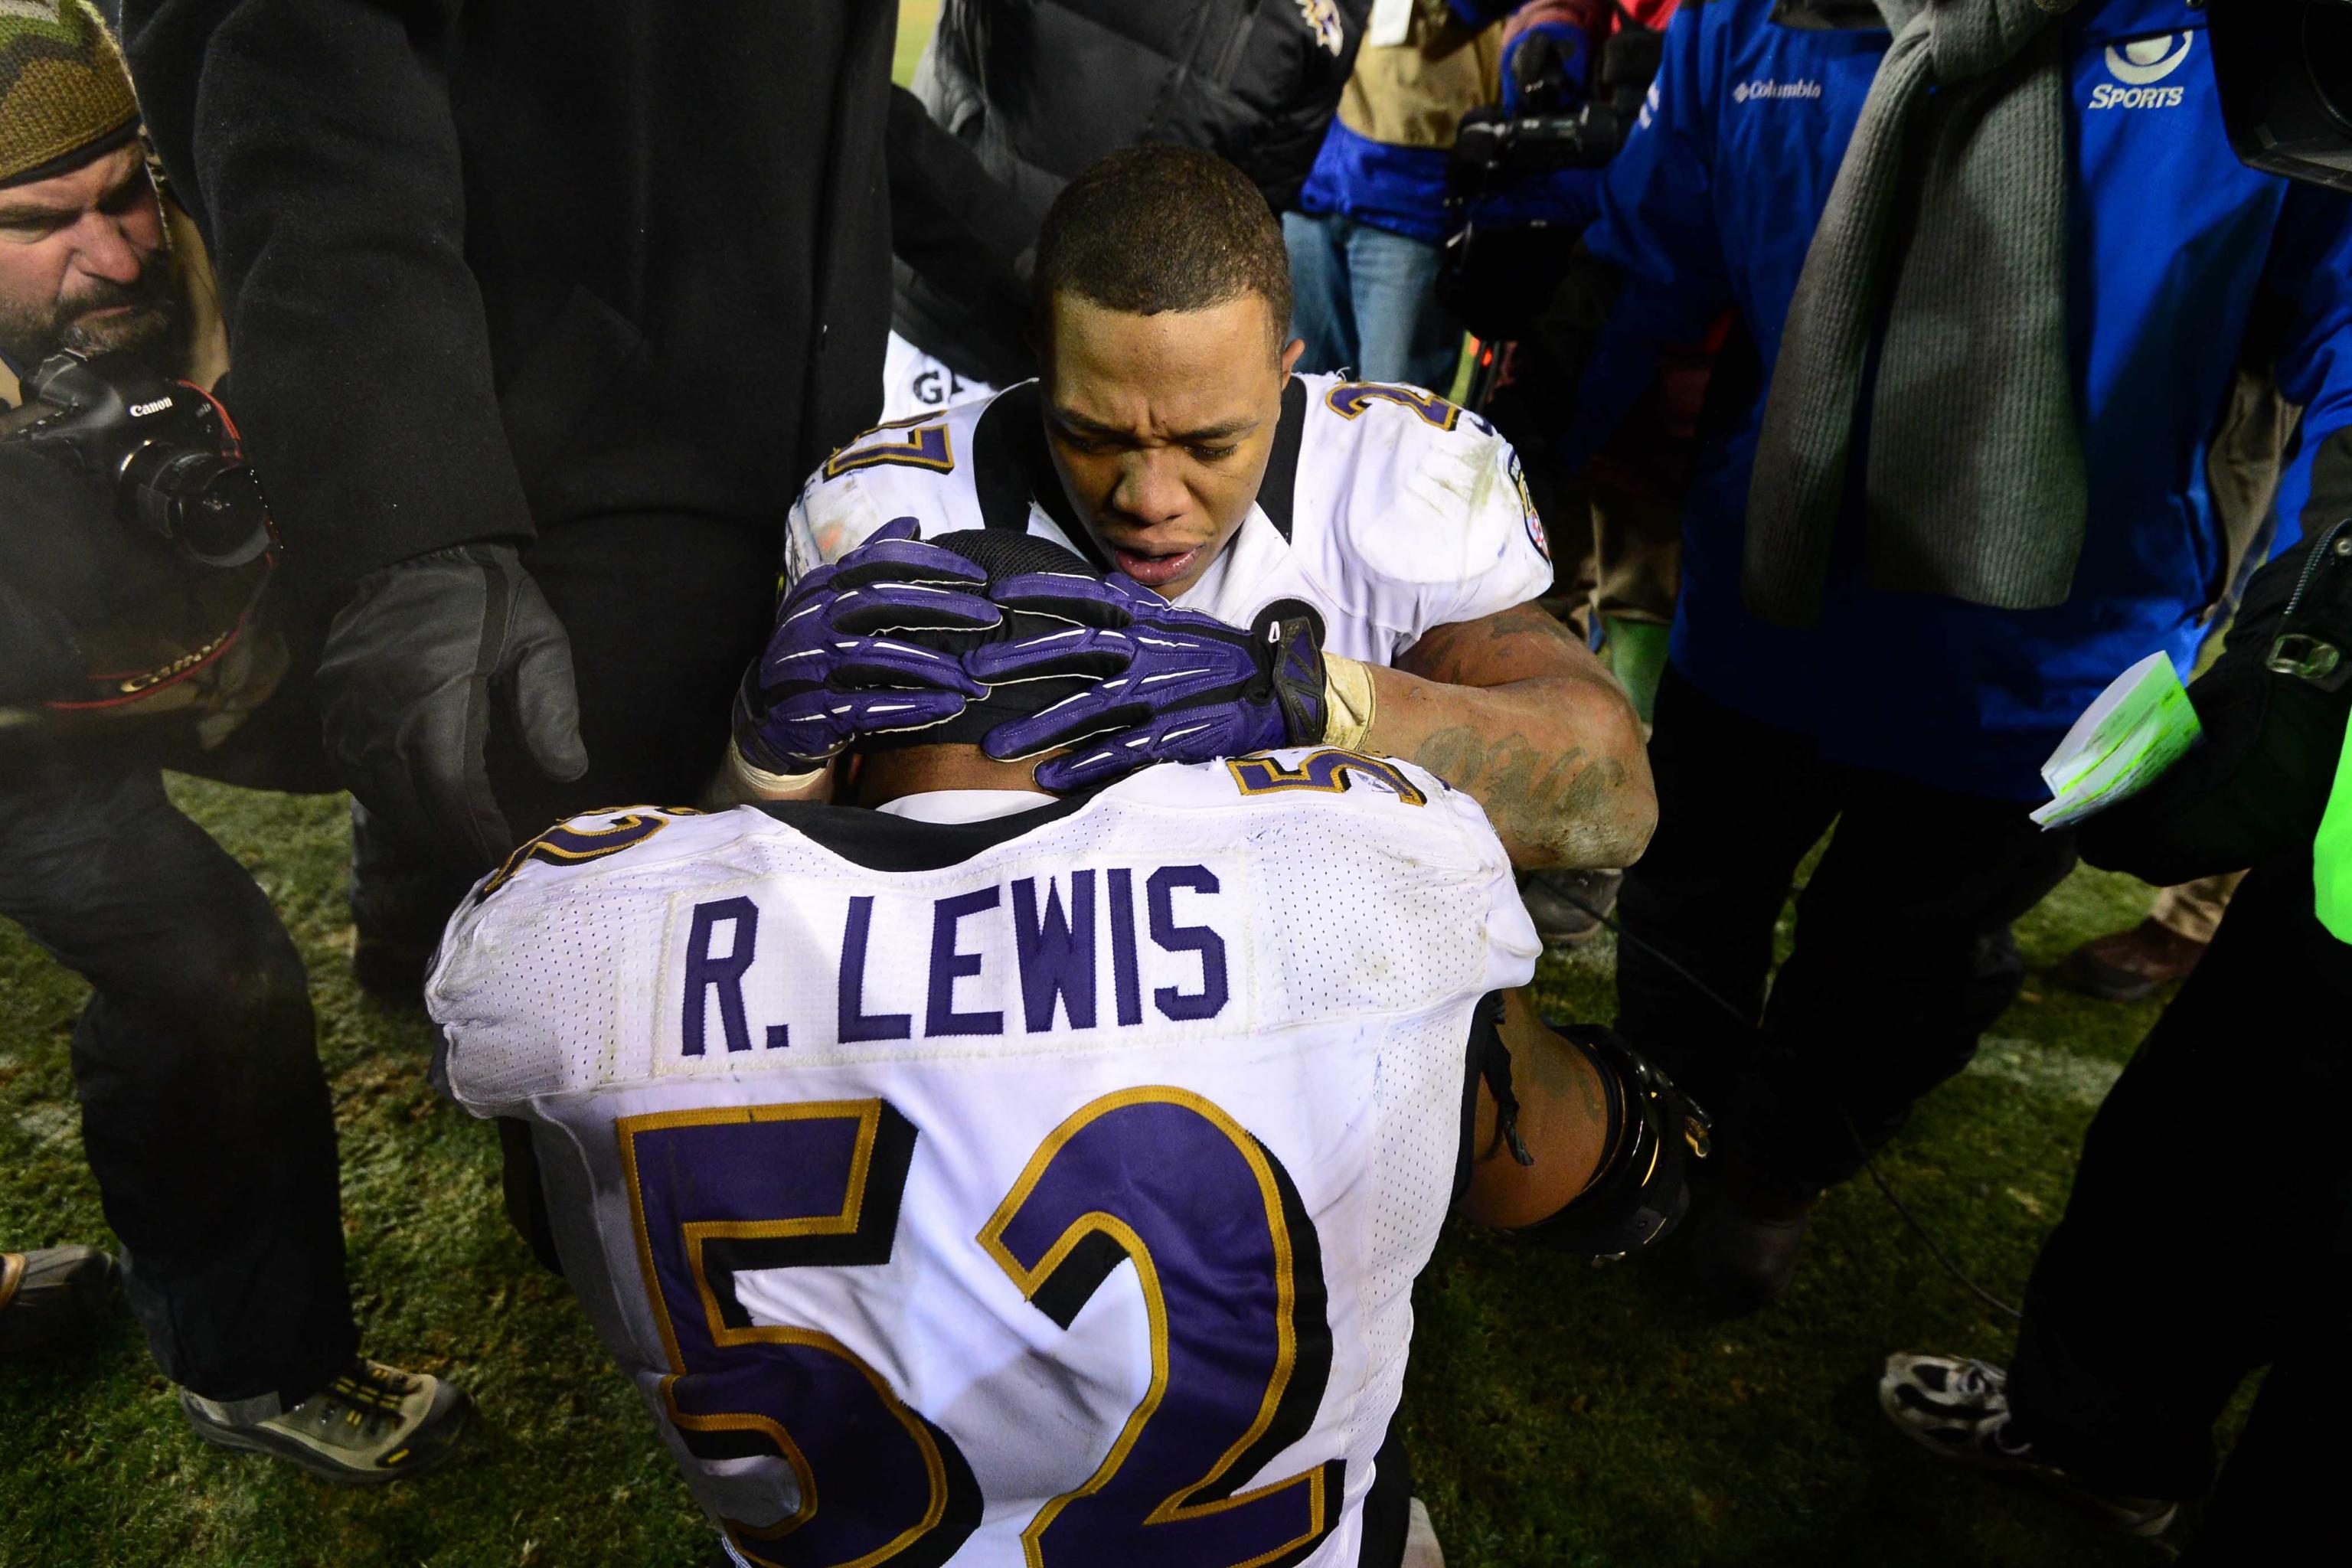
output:
[[[1536,952],[1468,795],[1317,748],[572,818],[428,1001],[748,1563],[1355,1568]]]

